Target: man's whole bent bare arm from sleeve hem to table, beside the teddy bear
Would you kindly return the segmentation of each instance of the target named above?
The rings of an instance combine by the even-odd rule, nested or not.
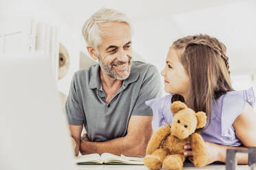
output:
[[[81,154],[109,152],[116,155],[145,156],[152,134],[151,121],[152,116],[131,116],[126,136],[105,142],[81,141]]]

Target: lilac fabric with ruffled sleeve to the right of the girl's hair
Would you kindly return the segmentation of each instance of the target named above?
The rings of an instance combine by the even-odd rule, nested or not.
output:
[[[215,99],[212,104],[210,124],[201,134],[204,140],[220,145],[241,145],[241,141],[235,135],[233,122],[242,114],[246,102],[250,106],[254,105],[253,88],[230,91]]]

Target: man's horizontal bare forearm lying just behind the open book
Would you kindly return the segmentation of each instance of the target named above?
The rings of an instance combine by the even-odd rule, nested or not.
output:
[[[148,141],[142,138],[139,140],[132,140],[125,136],[105,142],[81,141],[80,151],[81,154],[103,154],[108,152],[116,155],[145,156]]]

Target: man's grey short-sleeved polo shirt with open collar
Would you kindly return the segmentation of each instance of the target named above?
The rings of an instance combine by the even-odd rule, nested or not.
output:
[[[96,64],[74,74],[65,106],[69,124],[85,125],[90,141],[125,136],[131,115],[152,115],[145,101],[160,97],[161,91],[156,66],[136,61],[129,77],[106,104],[99,71]]]

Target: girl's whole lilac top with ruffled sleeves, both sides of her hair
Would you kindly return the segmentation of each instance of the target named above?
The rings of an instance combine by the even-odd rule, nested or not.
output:
[[[172,94],[146,101],[153,110],[152,128],[155,132],[164,122],[171,123],[173,113],[170,110]],[[255,103],[253,88],[248,90],[230,91],[213,101],[211,123],[201,134],[204,141],[227,146],[239,146],[241,141],[235,136],[233,122],[244,110],[244,104]],[[208,122],[209,123],[209,122]],[[207,124],[208,124],[207,123]]]

